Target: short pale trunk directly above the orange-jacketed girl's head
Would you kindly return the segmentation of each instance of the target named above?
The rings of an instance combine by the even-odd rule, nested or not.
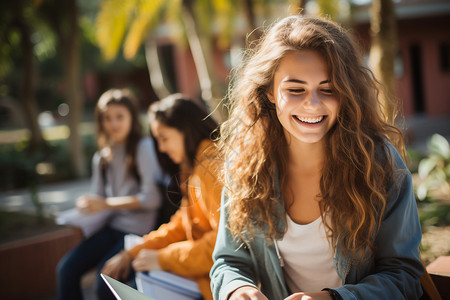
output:
[[[161,69],[161,63],[158,56],[158,46],[154,35],[150,35],[145,40],[145,59],[147,69],[150,75],[150,84],[153,91],[159,99],[169,96],[171,93],[167,88],[167,80],[164,77],[166,72]]]

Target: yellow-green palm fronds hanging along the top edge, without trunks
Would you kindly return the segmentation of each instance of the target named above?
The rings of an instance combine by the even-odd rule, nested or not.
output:
[[[219,46],[228,46],[241,2],[237,0],[195,0],[192,9],[197,27],[210,39],[217,28]],[[104,0],[97,17],[97,40],[105,59],[116,57],[123,42],[123,52],[132,59],[147,35],[164,22],[181,25],[181,0]],[[172,33],[173,34],[173,33]]]

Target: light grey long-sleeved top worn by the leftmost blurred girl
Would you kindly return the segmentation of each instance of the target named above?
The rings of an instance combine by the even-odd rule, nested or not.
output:
[[[162,201],[157,183],[164,181],[153,140],[143,137],[137,145],[136,167],[140,181],[128,172],[125,145],[113,146],[112,151],[105,176],[100,167],[102,153],[96,152],[92,159],[92,192],[102,197],[136,195],[141,209],[114,211],[109,226],[125,233],[144,235],[154,229]]]

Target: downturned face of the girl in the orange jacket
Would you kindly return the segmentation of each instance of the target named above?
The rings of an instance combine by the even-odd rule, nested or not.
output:
[[[166,153],[176,164],[181,164],[186,160],[184,136],[181,131],[166,126],[159,121],[152,122],[150,128],[153,136],[158,141],[159,151]]]

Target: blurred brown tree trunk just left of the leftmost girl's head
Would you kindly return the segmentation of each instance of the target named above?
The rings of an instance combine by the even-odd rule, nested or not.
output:
[[[87,176],[87,165],[83,151],[79,125],[83,115],[83,95],[80,84],[80,30],[78,27],[78,7],[76,0],[68,2],[68,39],[66,44],[66,80],[69,113],[69,155],[75,176]]]

